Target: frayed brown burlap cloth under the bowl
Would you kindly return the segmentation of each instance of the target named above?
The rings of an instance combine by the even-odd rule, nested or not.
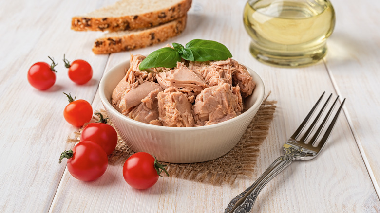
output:
[[[266,139],[273,120],[275,104],[276,101],[264,100],[238,144],[227,154],[215,160],[200,163],[164,163],[168,165],[166,168],[169,175],[213,185],[226,183],[232,185],[238,177],[252,177],[260,153],[260,144]],[[104,109],[97,112],[101,112],[104,117],[108,116]],[[108,124],[114,126],[111,121]],[[68,138],[67,142],[79,142],[80,133],[84,127],[74,132],[74,136]],[[134,152],[119,136],[114,152],[108,157],[109,163],[123,166],[125,160],[132,154]]]

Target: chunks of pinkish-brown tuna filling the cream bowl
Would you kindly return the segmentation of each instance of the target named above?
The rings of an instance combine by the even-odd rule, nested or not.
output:
[[[182,60],[174,69],[140,71],[144,59],[131,54],[131,66],[111,101],[119,112],[146,124],[190,127],[224,122],[242,113],[244,98],[255,88],[247,68],[231,58]]]

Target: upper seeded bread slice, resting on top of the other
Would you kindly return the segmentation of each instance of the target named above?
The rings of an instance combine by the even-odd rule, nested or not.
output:
[[[76,31],[125,31],[147,28],[185,16],[191,0],[120,0],[72,18]]]

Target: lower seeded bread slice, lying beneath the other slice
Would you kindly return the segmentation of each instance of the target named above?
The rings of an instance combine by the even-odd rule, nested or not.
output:
[[[95,54],[117,53],[166,41],[182,33],[186,27],[186,18],[187,16],[183,16],[147,29],[107,33],[96,39],[93,52]]]

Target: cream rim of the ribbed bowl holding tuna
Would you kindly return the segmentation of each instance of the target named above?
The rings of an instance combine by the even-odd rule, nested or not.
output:
[[[104,75],[100,79],[100,83],[99,83],[100,101],[102,102],[103,106],[106,109],[108,109],[107,111],[111,111],[111,113],[113,113],[119,119],[121,119],[123,121],[126,121],[128,123],[132,123],[132,124],[137,125],[139,127],[145,128],[145,129],[154,129],[154,130],[160,130],[160,131],[173,131],[173,130],[174,131],[194,131],[194,130],[209,130],[209,129],[214,129],[214,128],[218,128],[218,127],[225,126],[225,125],[230,125],[230,124],[236,123],[239,120],[243,119],[245,115],[248,116],[249,114],[251,114],[252,112],[254,112],[255,109],[257,107],[260,107],[260,105],[264,101],[265,86],[264,86],[264,82],[261,79],[261,77],[255,71],[253,71],[252,69],[250,69],[246,65],[244,65],[242,63],[239,63],[239,64],[245,66],[247,68],[247,71],[251,75],[251,77],[253,77],[253,79],[255,79],[256,88],[258,87],[258,85],[260,85],[262,87],[262,89],[260,90],[261,92],[259,91],[260,93],[259,93],[259,95],[257,97],[256,102],[251,107],[249,107],[242,114],[240,114],[240,115],[238,115],[238,116],[236,116],[234,118],[231,118],[231,119],[229,119],[227,121],[221,122],[221,123],[211,124],[211,125],[205,125],[205,126],[192,126],[192,127],[181,127],[181,128],[178,128],[178,127],[171,127],[171,126],[158,126],[158,125],[152,125],[152,124],[145,124],[143,122],[135,121],[132,118],[129,118],[129,117],[121,114],[119,111],[117,111],[111,105],[111,103],[108,101],[108,99],[106,97],[106,94],[104,92],[104,89],[105,89],[105,86],[106,86],[105,81],[108,80],[108,78],[110,78],[111,73],[113,73],[114,70],[127,69],[130,66],[129,59],[118,63],[117,65],[115,65],[114,67],[112,67],[111,69],[109,69],[108,71],[106,71],[106,73],[104,73]]]

